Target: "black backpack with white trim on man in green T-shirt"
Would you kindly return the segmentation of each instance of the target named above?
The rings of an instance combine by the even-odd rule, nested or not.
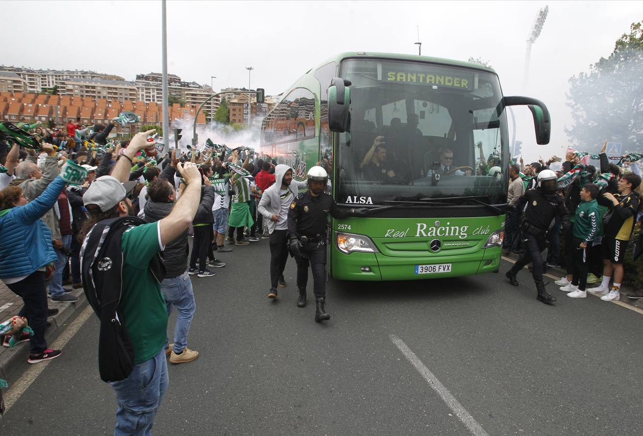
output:
[[[98,371],[109,383],[125,380],[134,368],[134,346],[118,304],[122,295],[123,252],[121,236],[128,228],[145,224],[138,217],[105,219],[95,224],[80,251],[82,284],[87,301],[100,318]],[[150,262],[154,277],[165,277],[159,255]]]

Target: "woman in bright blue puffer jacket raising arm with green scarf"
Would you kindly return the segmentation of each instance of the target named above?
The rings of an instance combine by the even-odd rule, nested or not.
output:
[[[25,315],[33,329],[28,363],[60,356],[60,350],[48,349],[44,339],[48,312],[45,267],[55,262],[57,255],[51,232],[41,217],[56,203],[65,184],[56,177],[31,202],[18,186],[0,191],[0,280],[23,298]]]

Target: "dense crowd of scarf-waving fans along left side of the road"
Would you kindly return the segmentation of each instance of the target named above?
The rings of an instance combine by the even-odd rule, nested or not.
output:
[[[64,128],[45,129],[37,123],[22,122],[15,126],[4,123],[6,128],[0,129],[0,280],[24,302],[19,316],[3,324],[3,345],[30,342],[29,363],[60,356],[60,350],[50,349],[44,338],[48,316],[57,313],[57,309],[48,308],[48,298],[73,303],[78,300],[74,289],[85,288],[87,293],[87,280],[93,282],[93,278],[88,279],[87,271],[83,271],[87,268],[82,264],[86,259],[83,241],[87,244],[89,232],[97,223],[118,216],[119,207],[125,210],[123,215],[136,216],[141,223],[160,223],[172,217],[181,197],[186,197],[185,205],[188,197],[197,193],[192,223],[162,244],[165,273],[159,280],[158,295],[163,295],[165,323],[173,309],[178,312],[174,340],[162,333],[163,350],[171,363],[187,363],[199,355],[188,348],[187,340],[196,307],[192,275],[213,277],[210,268],[226,266],[215,257],[219,253],[237,247],[243,250],[251,242],[260,241],[258,236],[268,237],[266,219],[257,219],[257,204],[263,190],[275,182],[274,163],[258,159],[253,150],[244,147],[187,153],[173,150],[160,156],[155,143],[147,142],[152,132],[137,134],[131,141],[111,141],[108,135],[115,123],[86,127],[70,121]],[[141,139],[141,135],[147,136]],[[68,163],[83,168],[80,183],[64,179],[61,173]],[[192,168],[198,168],[196,177]],[[120,190],[125,190],[126,199],[109,199]],[[190,195],[186,194],[188,190]],[[136,227],[143,228],[145,225]],[[124,235],[130,236],[122,240],[125,258],[125,241],[132,241],[132,250],[140,250],[137,259],[144,257],[145,232]],[[193,238],[191,253],[188,238]],[[109,265],[103,267],[109,269]],[[152,298],[145,305],[156,307],[153,284],[150,289]],[[102,292],[105,295],[104,289]],[[124,310],[131,297],[123,298]],[[138,307],[138,303],[131,307]],[[149,314],[124,316],[126,320],[150,319]],[[150,328],[148,324],[135,330],[145,331]],[[131,336],[140,357],[143,352],[138,352],[136,334]],[[149,338],[141,341],[149,343]],[[134,364],[144,366],[145,362]],[[118,383],[112,385],[120,402],[128,388]],[[118,413],[117,427],[126,426],[127,411],[119,409]]]

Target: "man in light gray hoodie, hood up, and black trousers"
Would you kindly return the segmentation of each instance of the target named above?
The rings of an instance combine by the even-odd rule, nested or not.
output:
[[[267,219],[270,242],[270,291],[268,298],[277,298],[277,286],[285,287],[284,268],[288,260],[288,208],[306,181],[293,180],[293,168],[275,167],[275,183],[264,191],[258,211]]]

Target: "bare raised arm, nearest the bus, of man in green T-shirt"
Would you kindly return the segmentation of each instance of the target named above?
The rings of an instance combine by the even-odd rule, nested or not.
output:
[[[131,143],[129,147],[131,147]],[[127,148],[129,149],[129,147]],[[170,215],[159,221],[161,244],[164,246],[168,242],[174,241],[192,223],[201,198],[201,173],[197,166],[191,162],[185,163],[185,165],[179,163],[177,169],[188,186],[172,208]]]

